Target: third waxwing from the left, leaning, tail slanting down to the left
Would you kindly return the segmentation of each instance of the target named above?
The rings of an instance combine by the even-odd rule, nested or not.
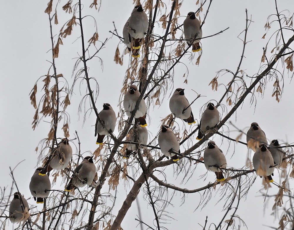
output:
[[[58,146],[51,150],[51,153],[45,163],[44,168],[40,172],[41,176],[45,176],[46,172],[50,172],[52,169],[60,170],[68,166],[73,150],[69,145],[69,140],[63,138]]]

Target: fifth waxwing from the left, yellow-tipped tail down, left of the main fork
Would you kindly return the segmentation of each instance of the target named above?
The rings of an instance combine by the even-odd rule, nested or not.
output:
[[[99,122],[97,118],[95,125],[95,137],[98,134],[96,144],[102,145],[104,137],[109,135],[108,131],[114,131],[116,115],[111,105],[109,105],[108,103],[104,103],[103,110],[100,111],[99,117],[102,120],[103,125]]]

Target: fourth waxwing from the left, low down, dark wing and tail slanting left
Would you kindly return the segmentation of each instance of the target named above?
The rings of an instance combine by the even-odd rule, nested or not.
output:
[[[74,170],[75,174],[64,191],[69,192],[71,189],[82,187],[85,184],[92,185],[93,179],[96,174],[96,167],[93,162],[93,157],[87,156],[83,159]]]

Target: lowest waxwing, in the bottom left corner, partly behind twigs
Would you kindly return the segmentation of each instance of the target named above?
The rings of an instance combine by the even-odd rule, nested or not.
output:
[[[25,208],[29,210],[28,202],[19,192],[15,192],[9,205],[9,220],[12,223],[19,222],[24,216]]]

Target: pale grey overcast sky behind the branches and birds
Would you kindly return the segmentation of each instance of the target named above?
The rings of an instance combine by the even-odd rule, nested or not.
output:
[[[195,2],[196,1],[183,2],[178,23],[183,23],[189,11],[196,11],[196,9],[198,9]],[[131,0],[102,1],[101,9],[98,12],[95,9],[89,9],[88,6],[90,1],[87,1],[84,6],[85,11],[83,15],[91,14],[95,17],[98,23],[99,41],[105,41],[106,38],[111,37],[111,33],[108,31],[113,31],[114,29],[112,21],[115,22],[118,33],[122,35],[123,25],[134,7],[132,3],[133,1]],[[59,24],[53,26],[54,34],[58,34],[62,24],[71,18],[71,15],[65,14],[61,10],[64,4],[66,4],[66,1],[61,1],[58,6],[57,14]],[[2,28],[0,37],[2,44],[0,51],[0,63],[2,66],[0,78],[0,130],[2,131],[2,138],[0,139],[0,145],[2,147],[0,187],[3,188],[11,184],[12,179],[9,176],[9,166],[14,168],[19,162],[24,160],[14,170],[14,176],[20,192],[24,194],[26,199],[31,198],[28,200],[30,205],[35,205],[29,191],[29,181],[37,166],[37,157],[39,156],[39,152],[36,153],[35,148],[41,139],[47,137],[49,124],[45,121],[51,120],[47,117],[44,121],[40,122],[35,131],[31,128],[35,110],[30,104],[29,94],[36,80],[47,73],[50,63],[46,60],[52,60],[49,20],[48,15],[44,13],[46,6],[47,1],[3,1],[0,10],[2,15],[2,20],[0,21],[0,28]],[[206,12],[207,6],[208,2],[203,7],[201,19],[204,18],[203,15]],[[291,11],[294,9],[293,6],[293,0],[278,1],[279,11],[285,9]],[[262,47],[265,47],[270,35],[278,29],[278,24],[273,23],[265,39],[262,39],[265,33],[264,25],[267,22],[267,17],[270,14],[276,13],[273,0],[213,1],[206,22],[203,25],[203,36],[212,35],[227,27],[230,28],[218,36],[203,39],[203,55],[199,66],[195,65],[198,54],[195,55],[192,61],[189,61],[189,54],[183,57],[182,62],[187,65],[189,70],[188,85],[183,84],[184,78],[182,78],[183,74],[186,72],[185,66],[177,65],[175,68],[174,88],[185,88],[185,95],[189,101],[196,98],[196,93],[194,93],[192,89],[201,95],[207,96],[199,98],[191,106],[196,119],[199,119],[201,107],[207,103],[208,100],[218,101],[224,93],[224,87],[222,86],[219,86],[217,92],[212,91],[211,86],[208,86],[210,81],[216,76],[216,72],[220,69],[229,69],[234,73],[236,71],[243,48],[243,42],[237,38],[237,36],[245,29],[245,8],[248,9],[248,18],[251,18],[253,22],[250,24],[248,30],[247,41],[250,42],[246,45],[245,58],[241,65],[241,69],[245,70],[249,76],[258,73],[261,56],[263,54]],[[170,5],[167,6],[167,9],[168,11],[170,10]],[[289,16],[289,13],[286,11],[285,14]],[[292,14],[293,12],[291,11],[290,15]],[[273,16],[272,19],[275,20],[275,16]],[[84,20],[83,26],[85,41],[87,41],[95,32],[93,18],[88,17]],[[60,46],[59,58],[55,59],[57,73],[62,73],[69,82],[69,85],[72,85],[73,82],[71,74],[74,63],[78,55],[81,55],[81,42],[77,39],[79,30],[79,26],[74,26],[72,34],[63,39],[64,45]],[[156,33],[162,34],[161,23],[159,24],[159,28],[156,27]],[[176,33],[176,38],[180,36],[181,31],[178,31]],[[55,38],[56,37],[57,36],[55,36]],[[240,35],[240,38],[243,39],[244,35]],[[288,41],[288,38],[289,34],[285,33],[285,40]],[[274,47],[274,41],[275,39],[273,38],[270,42],[268,55],[270,55],[270,50]],[[90,68],[89,75],[95,77],[100,86],[96,107],[100,111],[103,103],[110,103],[116,114],[119,110],[117,105],[119,103],[118,98],[120,96],[120,90],[125,71],[128,67],[128,55],[124,56],[123,66],[113,62],[115,49],[118,43],[120,43],[119,39],[116,36],[112,36],[106,43],[105,48],[98,53],[98,56],[103,60],[103,69],[101,69],[101,63],[98,58],[93,58],[88,62]],[[96,46],[100,47],[100,43],[97,42]],[[293,48],[293,44],[290,47]],[[120,43],[119,49],[122,53],[124,45]],[[231,75],[220,76],[218,78],[218,83],[219,85],[220,83],[227,85],[230,79]],[[277,103],[275,98],[271,97],[274,81],[269,81],[267,79],[268,83],[263,98],[257,93],[255,94],[257,98],[256,108],[250,105],[248,97],[248,99],[244,101],[242,108],[239,108],[237,113],[235,113],[229,121],[235,123],[238,128],[244,129],[245,132],[247,132],[252,122],[258,122],[260,127],[265,131],[269,142],[273,139],[278,139],[280,143],[293,143],[292,114],[294,111],[292,106],[293,102],[291,100],[293,98],[293,91],[291,90],[292,85],[290,84],[290,80],[287,70],[284,75],[285,88],[283,97],[280,103]],[[249,79],[246,82],[248,83]],[[79,86],[80,89],[78,89]],[[39,84],[37,100],[40,100],[42,95],[40,93],[41,88],[42,86]],[[169,113],[168,96],[174,91],[174,88],[169,88],[166,100],[161,103],[160,107],[155,106],[154,109],[149,108],[150,119],[147,120],[147,128],[152,137],[157,134],[162,117],[165,117]],[[96,121],[95,114],[92,113],[90,116],[88,115],[85,123],[83,123],[83,115],[78,116],[78,105],[85,92],[86,84],[79,85],[79,83],[77,83],[74,90],[75,94],[71,98],[71,105],[66,111],[70,114],[70,138],[74,138],[74,132],[77,130],[81,140],[81,152],[93,152],[97,147],[95,144],[96,137],[94,137],[93,127]],[[226,105],[226,107],[228,110],[231,109],[228,105]],[[222,116],[224,117],[224,114]],[[236,120],[235,116],[237,116]],[[176,121],[180,127],[183,127],[183,123],[180,120],[177,119]],[[230,136],[233,138],[237,137],[238,132],[234,132],[235,128],[230,125],[228,126],[231,130]],[[62,123],[59,125],[58,131],[58,136],[60,137],[63,135],[61,127]],[[186,128],[188,129],[190,127],[186,125]],[[118,136],[117,128],[114,134]],[[195,138],[196,135],[193,135],[191,138],[193,143],[196,143]],[[227,152],[226,158],[228,167],[241,168],[244,166],[248,151],[245,146],[236,144],[234,152],[233,145],[228,149],[228,142],[226,140],[221,145],[221,140],[218,136],[214,136],[213,138],[223,152]],[[246,141],[244,136],[241,140]],[[74,144],[77,146],[77,140],[74,141]],[[74,144],[71,144],[73,149]],[[184,151],[183,147],[181,147],[181,151]],[[86,155],[88,154],[85,153],[83,156]],[[98,166],[97,162],[96,166]],[[132,174],[131,169],[129,169],[128,172],[130,175]],[[206,173],[204,165],[197,166],[193,176],[186,184],[181,184],[184,177],[183,174],[173,174],[173,166],[169,166],[165,170],[165,173],[167,174],[168,183],[187,189],[196,189],[205,186],[209,182],[215,181],[215,175],[211,172],[208,172],[205,181],[200,178],[201,175]],[[100,176],[99,173],[98,175]],[[108,178],[106,179],[106,183],[107,180]],[[277,171],[275,171],[274,180],[279,183]],[[186,180],[184,181],[186,182]],[[132,184],[133,183],[130,182],[131,186]],[[60,182],[57,182],[53,189],[57,189],[59,185]],[[152,182],[151,185],[155,185],[155,183]],[[257,177],[254,186],[250,188],[247,199],[242,199],[240,201],[236,214],[245,221],[248,229],[269,229],[265,226],[278,227],[277,218],[280,217],[281,212],[277,214],[277,218],[275,215],[272,215],[271,207],[274,204],[274,198],[270,199],[269,203],[266,204],[259,192],[262,187],[262,180]],[[64,188],[64,185],[62,184],[60,188]],[[117,199],[116,207],[113,210],[114,215],[116,215],[117,211],[120,209],[129,189],[129,185],[125,187],[124,182],[120,181],[120,186],[118,187],[119,199]],[[143,212],[143,221],[153,226],[154,215],[152,207],[148,205],[148,198],[146,196],[144,196],[146,200],[142,198],[142,190],[143,189],[141,189],[138,198]],[[169,219],[167,220],[169,224],[162,225],[167,229],[200,229],[201,227],[198,223],[204,225],[206,216],[208,216],[208,224],[211,222],[218,224],[223,217],[223,202],[221,201],[218,204],[216,204],[216,202],[223,196],[217,191],[217,189],[216,191],[211,190],[212,199],[202,210],[199,208],[196,211],[194,210],[199,203],[200,194],[189,194],[186,196],[186,203],[181,205],[183,194],[177,192],[176,196],[174,196],[171,201],[173,207],[170,205],[166,209],[166,211],[170,213],[169,215],[176,220]],[[102,192],[108,192],[107,185],[104,185]],[[170,195],[171,192],[172,191],[169,190]],[[276,192],[277,189],[273,186],[269,189],[268,194],[276,194]],[[285,203],[286,198],[284,198],[283,201]],[[42,206],[37,205],[37,210],[40,211],[41,209]],[[36,209],[34,210],[36,211]],[[230,211],[230,214],[231,213],[232,211]],[[138,224],[138,222],[134,220],[137,218],[136,215],[137,207],[136,202],[134,202],[122,222],[123,229],[136,228]],[[229,219],[229,215],[225,219]],[[155,221],[154,224],[156,224]],[[12,229],[12,224],[9,223],[6,229]],[[213,229],[213,226],[211,226],[211,229]],[[242,225],[241,229],[245,229],[245,227]]]

